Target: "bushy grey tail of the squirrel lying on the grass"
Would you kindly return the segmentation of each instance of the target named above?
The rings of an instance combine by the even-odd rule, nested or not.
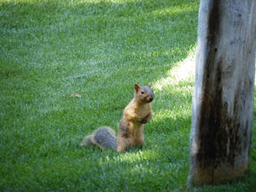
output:
[[[115,131],[111,127],[99,127],[81,142],[81,146],[97,145],[101,148],[117,150]]]

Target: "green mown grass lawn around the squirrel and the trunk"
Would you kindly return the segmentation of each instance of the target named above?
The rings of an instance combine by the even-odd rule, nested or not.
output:
[[[1,0],[0,191],[191,191],[198,5]],[[154,116],[142,150],[79,146],[101,125],[116,131],[133,84],[148,82]],[[247,177],[197,191],[255,188],[256,121]]]

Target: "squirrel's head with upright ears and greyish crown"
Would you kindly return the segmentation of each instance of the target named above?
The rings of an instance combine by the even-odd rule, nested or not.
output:
[[[135,97],[145,103],[150,103],[154,99],[154,91],[151,85],[139,86],[135,84]]]

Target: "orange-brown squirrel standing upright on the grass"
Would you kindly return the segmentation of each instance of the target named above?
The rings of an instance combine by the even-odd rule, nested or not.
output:
[[[108,147],[118,152],[125,151],[144,144],[144,126],[152,118],[151,101],[154,91],[151,85],[139,86],[135,84],[135,95],[123,111],[123,116],[118,127],[118,135],[111,127],[99,127],[92,134],[85,137],[81,146],[97,145]]]

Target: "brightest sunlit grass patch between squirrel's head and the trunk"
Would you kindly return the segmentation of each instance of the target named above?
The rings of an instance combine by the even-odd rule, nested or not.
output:
[[[153,86],[158,91],[168,84],[179,84],[181,81],[194,81],[195,50],[194,48],[183,61],[178,61],[175,67],[168,71],[168,76],[156,81]]]

